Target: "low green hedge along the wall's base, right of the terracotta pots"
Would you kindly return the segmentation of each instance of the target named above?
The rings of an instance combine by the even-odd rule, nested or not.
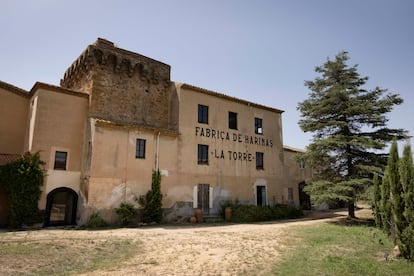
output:
[[[274,206],[234,205],[231,220],[233,222],[257,222],[298,218],[302,215],[300,208],[285,204]]]

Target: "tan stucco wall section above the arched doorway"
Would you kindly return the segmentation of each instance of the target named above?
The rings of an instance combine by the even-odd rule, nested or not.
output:
[[[31,133],[26,145],[32,152],[40,151],[46,162],[48,174],[39,201],[39,208],[44,209],[47,193],[54,188],[79,191],[88,96],[42,83],[32,93],[36,104],[29,114]],[[68,153],[65,171],[54,171],[55,151]]]

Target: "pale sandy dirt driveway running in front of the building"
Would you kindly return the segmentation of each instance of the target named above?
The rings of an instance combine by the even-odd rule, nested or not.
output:
[[[258,224],[197,224],[101,231],[47,229],[30,231],[30,239],[39,242],[59,237],[140,241],[139,252],[126,262],[110,270],[84,275],[261,275],[269,274],[272,265],[286,252],[284,236],[289,227],[318,224],[345,216],[346,212],[313,212],[307,219]],[[1,235],[18,240],[27,238],[28,233]]]

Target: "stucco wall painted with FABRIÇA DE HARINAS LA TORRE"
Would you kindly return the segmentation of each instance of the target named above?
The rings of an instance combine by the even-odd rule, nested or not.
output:
[[[256,186],[266,186],[269,203],[280,201],[283,177],[281,111],[264,108],[188,85],[178,85],[179,183],[187,190],[197,184],[214,189],[214,209],[223,198],[256,203]],[[208,124],[198,123],[198,104],[208,106]],[[237,113],[237,130],[229,129],[228,112]],[[255,134],[254,118],[263,120]],[[197,145],[208,145],[208,165],[197,163]],[[256,152],[264,154],[264,169],[256,169]]]

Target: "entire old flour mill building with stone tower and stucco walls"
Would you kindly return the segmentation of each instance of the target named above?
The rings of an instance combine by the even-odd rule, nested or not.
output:
[[[165,221],[217,214],[229,198],[301,203],[311,171],[283,146],[282,111],[173,82],[170,70],[98,39],[59,87],[0,83],[0,154],[40,151],[46,224],[83,224],[94,212],[116,221],[114,208],[136,204],[154,170]]]

